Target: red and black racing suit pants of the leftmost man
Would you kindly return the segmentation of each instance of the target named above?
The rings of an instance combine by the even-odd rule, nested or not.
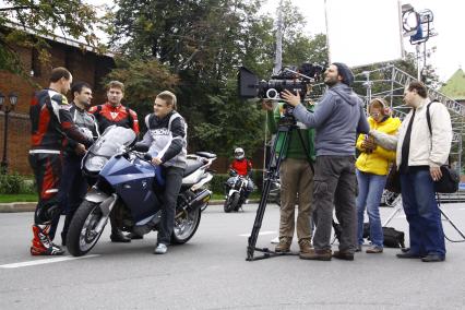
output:
[[[56,214],[59,214],[57,193],[61,178],[61,155],[29,154],[29,164],[38,191],[34,224],[50,224]]]

